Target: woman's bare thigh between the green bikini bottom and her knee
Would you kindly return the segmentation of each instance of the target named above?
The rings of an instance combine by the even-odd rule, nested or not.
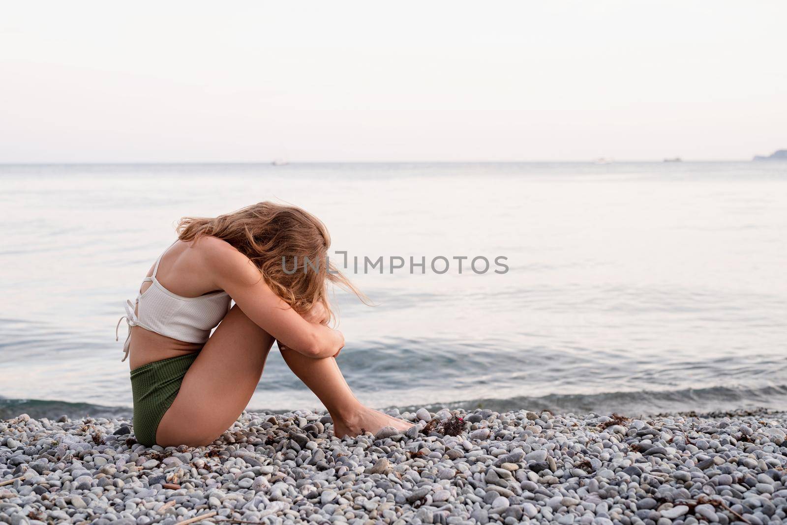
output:
[[[232,307],[183,377],[156,442],[202,446],[222,435],[249,403],[272,345],[268,332]]]

